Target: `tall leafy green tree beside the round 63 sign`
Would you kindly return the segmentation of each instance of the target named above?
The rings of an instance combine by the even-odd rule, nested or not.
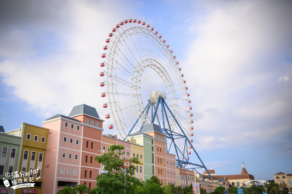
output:
[[[140,185],[140,181],[133,175],[135,174],[135,166],[131,165],[126,170],[126,184],[125,184],[125,172],[121,168],[123,159],[121,155],[124,150],[123,145],[110,145],[109,152],[104,153],[101,156],[96,156],[95,161],[104,165],[103,172],[96,177],[96,191],[97,194],[124,194],[124,188],[127,193],[133,193],[134,189]],[[138,158],[129,159],[131,164],[140,164]]]

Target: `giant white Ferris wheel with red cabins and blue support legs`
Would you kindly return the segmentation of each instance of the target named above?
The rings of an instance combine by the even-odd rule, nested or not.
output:
[[[105,118],[114,122],[109,129],[116,127],[126,138],[145,124],[157,124],[166,135],[167,152],[177,155],[177,165],[190,164],[191,152],[198,156],[191,144],[191,100],[173,50],[150,24],[137,19],[121,21],[105,42],[100,86],[105,88]],[[201,164],[195,165],[206,169]]]

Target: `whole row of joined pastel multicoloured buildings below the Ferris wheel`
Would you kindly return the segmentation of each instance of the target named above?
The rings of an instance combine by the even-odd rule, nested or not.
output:
[[[51,194],[78,184],[93,188],[96,176],[103,171],[102,165],[93,159],[107,153],[111,144],[125,146],[122,157],[140,159],[134,175],[140,181],[156,175],[164,185],[185,187],[192,185],[196,177],[208,192],[223,186],[220,182],[200,180],[192,170],[176,168],[175,155],[166,153],[165,136],[158,125],[147,124],[141,132],[117,139],[102,134],[103,121],[95,108],[81,104],[74,106],[69,116],[57,114],[48,118],[42,127],[22,123],[20,129],[1,132],[1,192]],[[13,181],[15,184],[16,171],[20,175],[17,184],[26,181],[34,183],[34,187],[7,188],[4,179],[10,186]]]

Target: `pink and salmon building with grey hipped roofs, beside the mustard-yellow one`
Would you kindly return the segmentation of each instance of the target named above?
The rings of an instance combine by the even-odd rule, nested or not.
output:
[[[81,104],[69,117],[58,114],[43,122],[49,129],[43,193],[56,193],[63,186],[95,186],[100,164],[93,158],[101,154],[103,121],[95,108]]]

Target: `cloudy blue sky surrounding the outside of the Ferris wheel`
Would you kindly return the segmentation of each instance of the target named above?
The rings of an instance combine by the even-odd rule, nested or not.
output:
[[[207,168],[233,175],[244,162],[266,180],[292,173],[291,10],[291,1],[261,0],[0,1],[0,125],[41,126],[79,104],[105,115],[102,46],[115,24],[137,18],[180,61]]]

